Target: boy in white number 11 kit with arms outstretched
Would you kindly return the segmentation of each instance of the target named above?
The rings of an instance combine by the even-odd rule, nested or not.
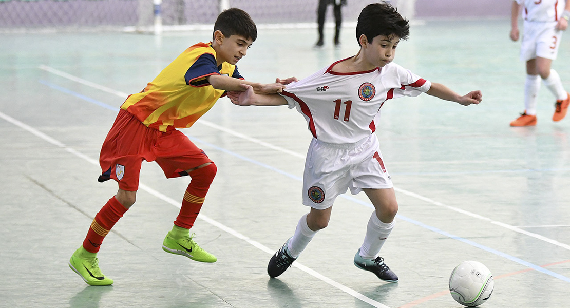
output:
[[[408,20],[388,3],[373,3],[360,13],[356,38],[360,51],[314,75],[287,85],[282,95],[255,95],[251,87],[232,92],[237,105],[289,105],[304,115],[313,139],[303,179],[303,204],[310,206],[294,235],[275,253],[267,267],[270,277],[282,274],[307,247],[317,231],[327,227],[335,198],[350,188],[364,191],[375,211],[354,264],[384,281],[398,276],[378,257],[394,227],[398,203],[382,161],[374,118],[390,98],[425,92],[462,105],[479,104],[481,91],[459,96],[442,84],[430,83],[392,63],[396,47],[409,35]]]

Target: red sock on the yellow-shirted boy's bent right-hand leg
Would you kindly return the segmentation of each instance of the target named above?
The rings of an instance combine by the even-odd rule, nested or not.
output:
[[[194,226],[194,221],[196,221],[196,217],[198,217],[198,213],[200,213],[204,198],[210,188],[211,182],[214,180],[217,170],[214,163],[211,163],[206,167],[196,169],[189,173],[189,175],[192,176],[192,180],[188,188],[186,188],[180,213],[178,213],[176,220],[174,220],[174,225],[186,229],[190,229]]]

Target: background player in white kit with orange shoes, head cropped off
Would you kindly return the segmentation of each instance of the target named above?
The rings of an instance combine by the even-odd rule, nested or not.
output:
[[[524,7],[523,39],[520,59],[526,61],[527,77],[524,81],[524,113],[511,122],[511,126],[536,125],[536,95],[540,79],[556,97],[552,121],[562,120],[568,111],[570,94],[564,90],[558,73],[551,69],[556,59],[562,31],[568,28],[570,1],[514,0],[511,10],[511,39],[519,39],[518,18]]]

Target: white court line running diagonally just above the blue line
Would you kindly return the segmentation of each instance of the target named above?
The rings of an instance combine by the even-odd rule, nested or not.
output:
[[[125,98],[128,96],[128,94],[126,94],[126,93],[122,93],[122,92],[119,92],[119,91],[115,91],[115,90],[113,90],[113,89],[111,89],[111,88],[104,87],[103,85],[99,85],[99,84],[92,83],[91,81],[87,81],[87,80],[81,79],[81,78],[79,78],[79,77],[70,75],[70,74],[68,74],[68,73],[66,73],[66,72],[59,71],[58,69],[55,69],[55,68],[52,68],[52,67],[48,67],[48,66],[46,66],[46,65],[39,65],[38,68],[43,69],[44,71],[47,71],[47,72],[54,73],[55,75],[58,75],[58,76],[61,76],[61,77],[64,77],[64,78],[67,78],[67,79],[76,81],[76,82],[78,82],[78,83],[80,83],[80,84],[84,84],[84,85],[88,85],[89,87],[93,87],[93,88],[96,88],[96,89],[100,89],[101,91],[104,91],[104,92],[107,92],[107,93],[112,93],[112,94],[115,94],[115,95],[117,95],[117,96],[125,97]],[[255,139],[255,138],[249,137],[249,136],[244,135],[244,134],[240,134],[240,133],[233,132],[233,131],[231,131],[231,130],[229,130],[229,129],[223,128],[222,126],[213,124],[212,122],[208,122],[208,121],[205,121],[205,120],[200,119],[200,121],[198,121],[197,123],[199,123],[199,124],[204,124],[204,125],[206,125],[206,126],[210,126],[210,127],[213,128],[213,129],[222,130],[223,132],[225,132],[225,133],[227,133],[227,134],[234,135],[235,137],[238,137],[238,138],[246,139],[247,141],[250,141],[250,142],[253,142],[253,143],[257,143],[258,145],[262,145],[262,146],[269,147],[270,149],[273,149],[273,150],[276,150],[276,151],[281,151],[281,152],[283,152],[283,153],[287,153],[288,155],[292,155],[292,156],[299,157],[299,158],[302,158],[302,159],[305,158],[305,155],[301,155],[301,154],[299,154],[299,153],[295,153],[295,152],[293,152],[293,151],[284,149],[283,147],[271,145],[270,143],[267,143],[267,142],[261,141],[261,140],[259,140],[259,139]],[[518,233],[521,233],[521,234],[524,234],[524,235],[527,235],[527,236],[530,236],[530,237],[534,237],[535,239],[538,239],[538,240],[541,240],[541,241],[545,241],[545,242],[547,242],[547,243],[549,243],[549,244],[556,245],[556,246],[558,246],[558,247],[561,247],[561,248],[570,250],[570,245],[567,245],[567,244],[564,244],[564,243],[560,243],[559,241],[556,241],[556,240],[553,240],[553,239],[549,239],[548,237],[539,235],[539,234],[537,234],[537,233],[528,232],[528,231],[523,230],[523,229],[521,229],[521,228],[519,228],[519,227],[515,227],[514,225],[510,225],[510,224],[502,223],[502,222],[500,222],[500,221],[492,220],[492,219],[490,219],[490,218],[488,218],[488,217],[484,217],[484,216],[478,215],[478,214],[473,213],[473,212],[470,212],[470,211],[462,210],[461,208],[452,207],[452,206],[447,206],[446,204],[443,204],[443,203],[441,203],[441,202],[437,202],[437,201],[435,201],[435,200],[429,199],[429,198],[427,198],[427,197],[425,197],[425,196],[422,196],[422,195],[418,195],[418,194],[416,194],[415,192],[411,192],[411,191],[408,191],[408,190],[404,190],[404,189],[402,189],[402,188],[394,187],[394,190],[396,190],[397,192],[400,192],[400,193],[402,193],[402,194],[404,194],[404,195],[408,195],[408,196],[411,196],[411,197],[413,197],[413,198],[423,200],[423,201],[425,201],[425,202],[427,202],[427,203],[434,204],[435,206],[444,207],[444,208],[447,208],[448,210],[455,211],[455,212],[458,212],[458,213],[462,213],[462,214],[464,214],[464,215],[467,215],[467,216],[470,216],[470,217],[473,217],[473,218],[476,218],[476,219],[488,221],[489,223],[494,224],[494,225],[498,225],[499,227],[503,227],[503,228],[509,229],[509,230],[511,230],[511,231],[514,231],[514,232],[518,232]]]

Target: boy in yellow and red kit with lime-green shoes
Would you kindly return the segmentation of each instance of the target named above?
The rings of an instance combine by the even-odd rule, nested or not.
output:
[[[119,191],[97,213],[83,245],[69,262],[70,268],[87,284],[113,284],[111,278],[101,273],[96,254],[113,225],[135,203],[143,161],[156,161],[166,178],[184,175],[192,178],[162,249],[200,262],[217,261],[194,242],[189,230],[217,168],[177,129],[192,126],[226,91],[241,90],[240,84],[249,84],[258,93],[282,91],[284,86],[280,83],[251,83],[239,75],[235,64],[256,38],[255,23],[245,11],[235,8],[223,11],[214,24],[210,43],[189,47],[143,91],[130,95],[123,103],[99,158],[103,171],[99,182],[113,179],[119,184]]]

